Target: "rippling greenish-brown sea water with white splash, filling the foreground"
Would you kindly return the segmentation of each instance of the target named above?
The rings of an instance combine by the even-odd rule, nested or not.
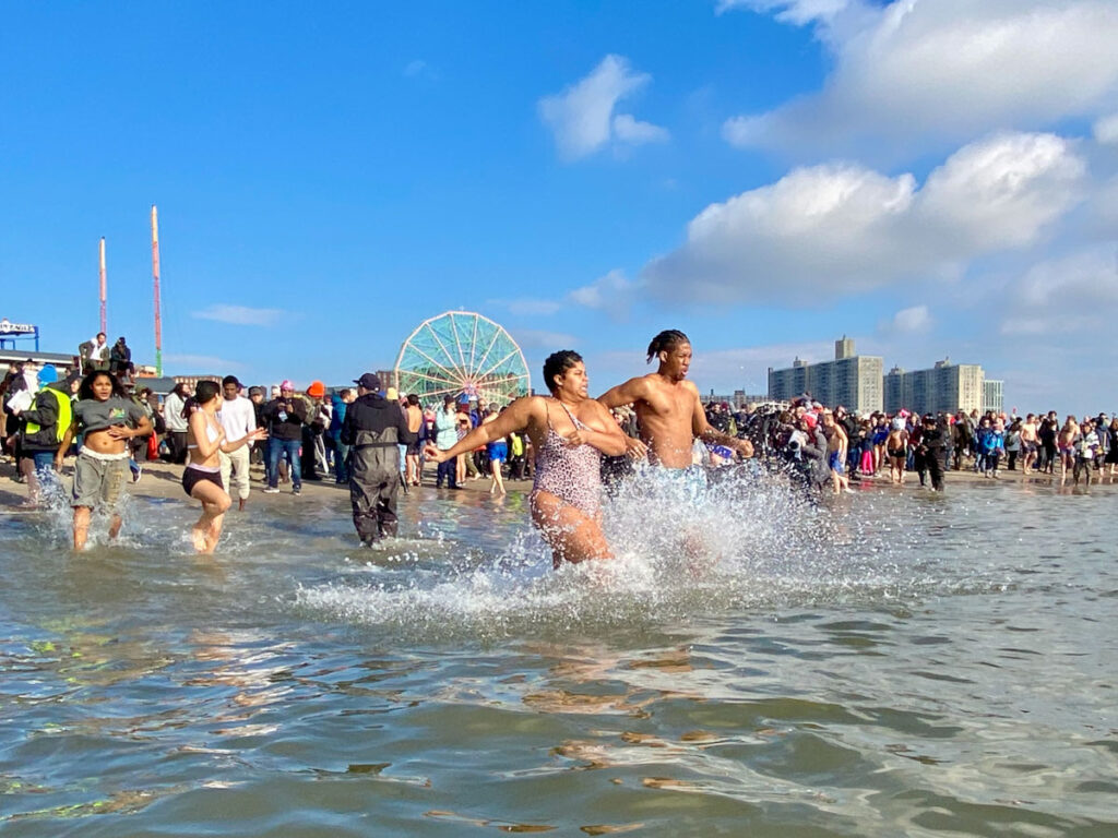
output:
[[[559,572],[520,495],[6,516],[0,834],[1118,834],[1118,487],[656,494]]]

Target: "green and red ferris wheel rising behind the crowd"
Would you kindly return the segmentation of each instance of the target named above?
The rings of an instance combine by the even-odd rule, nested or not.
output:
[[[420,323],[400,346],[394,373],[401,396],[421,400],[467,396],[506,404],[531,390],[520,346],[474,312],[445,312]]]

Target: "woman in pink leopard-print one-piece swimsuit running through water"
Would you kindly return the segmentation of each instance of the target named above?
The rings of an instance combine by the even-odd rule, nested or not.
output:
[[[436,463],[453,459],[510,434],[527,431],[536,451],[530,496],[532,523],[560,562],[612,559],[601,533],[601,455],[625,453],[625,435],[601,404],[587,394],[586,365],[577,352],[563,350],[543,362],[550,397],[517,399],[446,450],[428,445]]]

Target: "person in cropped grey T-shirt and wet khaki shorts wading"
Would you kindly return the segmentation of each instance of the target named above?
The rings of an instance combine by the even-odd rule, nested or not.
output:
[[[124,397],[121,382],[107,370],[95,370],[82,380],[74,404],[74,421],[63,436],[55,455],[55,468],[61,469],[70,442],[85,432],[82,450],[74,463],[74,549],[85,549],[89,537],[89,516],[95,507],[110,512],[108,537],[121,531],[120,505],[124,487],[132,483],[127,440],[152,432],[143,408]]]

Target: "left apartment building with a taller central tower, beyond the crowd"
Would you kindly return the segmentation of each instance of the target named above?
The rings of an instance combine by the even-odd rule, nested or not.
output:
[[[827,407],[842,404],[858,413],[881,410],[882,360],[877,355],[854,354],[854,341],[843,335],[835,341],[835,360],[809,364],[796,359],[784,370],[769,368],[768,398],[788,401],[811,393]]]

